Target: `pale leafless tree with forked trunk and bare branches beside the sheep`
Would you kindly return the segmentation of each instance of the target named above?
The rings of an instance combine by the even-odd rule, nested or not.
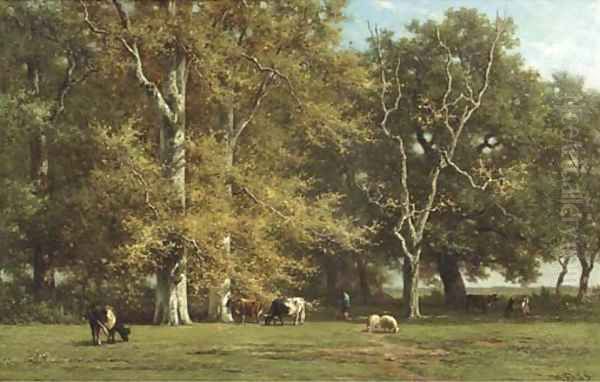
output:
[[[457,30],[457,25],[464,25],[462,22],[457,22],[461,17],[477,20],[476,30],[470,28]],[[481,186],[476,184],[473,177],[454,162],[454,157],[459,144],[465,144],[463,132],[475,112],[481,107],[488,91],[495,59],[501,55],[503,46],[510,42],[510,36],[506,36],[510,35],[508,27],[510,23],[507,20],[497,18],[495,26],[492,26],[484,16],[474,15],[472,11],[459,10],[448,11],[446,20],[439,25],[429,22],[415,28],[417,33],[415,43],[432,48],[433,57],[429,60],[438,62],[438,67],[441,66],[442,75],[445,77],[445,89],[441,93],[421,94],[420,104],[417,105],[423,111],[420,116],[423,129],[430,130],[436,135],[435,145],[432,143],[431,148],[436,153],[437,159],[431,163],[430,171],[426,176],[428,186],[424,198],[419,198],[418,194],[421,193],[416,193],[414,188],[409,188],[407,138],[403,136],[402,130],[396,131],[396,124],[402,123],[396,114],[404,111],[401,109],[402,63],[397,49],[395,50],[389,42],[389,35],[383,36],[386,41],[382,41],[382,36],[377,29],[372,33],[373,54],[381,89],[379,93],[381,118],[378,125],[382,136],[396,151],[400,162],[398,170],[400,200],[396,204],[396,223],[393,233],[401,245],[404,314],[408,318],[420,316],[419,266],[425,231],[431,213],[439,204],[438,187],[442,170],[444,168],[455,170],[464,175],[475,188],[485,189],[489,184],[489,181]],[[467,56],[462,56],[462,48],[468,45],[479,45],[479,49],[485,51],[485,54],[482,54],[485,58],[475,59],[471,56],[469,59]],[[455,83],[455,78],[461,83]]]

